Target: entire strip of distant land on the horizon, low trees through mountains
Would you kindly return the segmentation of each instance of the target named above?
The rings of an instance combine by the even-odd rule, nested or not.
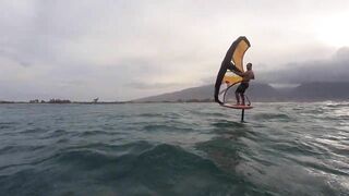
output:
[[[248,96],[252,102],[318,102],[318,101],[349,101],[349,82],[304,83],[292,88],[274,88],[265,83],[253,83]],[[228,99],[234,101],[233,91]],[[214,102],[213,85],[185,88],[178,91],[160,94],[140,99],[124,101],[71,101],[69,99],[33,99],[28,101],[0,100],[0,103],[81,103],[81,105],[123,105],[123,103],[178,103],[178,102]]]

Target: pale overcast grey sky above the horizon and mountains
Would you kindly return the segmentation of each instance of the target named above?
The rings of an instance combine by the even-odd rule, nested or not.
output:
[[[348,0],[0,0],[0,100],[214,84],[239,36],[256,82],[349,82],[348,19]]]

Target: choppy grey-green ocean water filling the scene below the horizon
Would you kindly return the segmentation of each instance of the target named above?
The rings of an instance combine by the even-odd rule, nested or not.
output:
[[[0,105],[0,195],[349,195],[349,102]]]

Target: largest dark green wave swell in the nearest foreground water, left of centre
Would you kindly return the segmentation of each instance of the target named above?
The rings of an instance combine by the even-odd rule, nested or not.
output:
[[[100,150],[101,146],[128,152],[110,154]],[[141,149],[130,150],[134,146]],[[239,177],[226,175],[213,161],[181,147],[141,142],[123,146],[64,149],[34,169],[0,176],[0,191],[22,195],[27,187],[26,194],[62,195],[67,192],[82,194],[76,188],[82,187],[83,192],[89,189],[89,193],[100,194],[100,186],[97,185],[103,184],[108,192],[117,195],[229,195],[256,192],[251,184],[241,184],[240,181]]]

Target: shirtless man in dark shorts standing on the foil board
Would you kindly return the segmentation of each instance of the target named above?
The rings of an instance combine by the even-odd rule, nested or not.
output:
[[[249,88],[249,83],[251,79],[254,79],[254,73],[252,71],[252,63],[246,64],[248,71],[240,72],[240,71],[233,71],[237,75],[242,77],[242,82],[238,86],[236,90],[236,98],[237,98],[237,105],[244,106],[244,91]],[[240,102],[241,97],[241,102]]]

